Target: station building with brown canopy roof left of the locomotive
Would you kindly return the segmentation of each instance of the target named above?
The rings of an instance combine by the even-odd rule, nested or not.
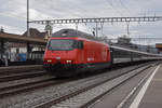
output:
[[[30,28],[30,37],[27,31],[23,35],[14,35],[0,30],[0,59],[4,56],[10,62],[26,60],[31,52],[44,51],[46,33],[40,32],[35,28]]]

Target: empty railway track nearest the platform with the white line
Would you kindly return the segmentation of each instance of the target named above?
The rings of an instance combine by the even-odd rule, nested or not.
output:
[[[89,105],[97,100],[97,98],[102,97],[104,94],[124,83],[134,76],[143,72],[144,70],[150,69],[152,65],[146,65],[127,71],[118,77],[105,79],[86,87],[63,95],[58,98],[37,105],[36,108],[86,108]]]

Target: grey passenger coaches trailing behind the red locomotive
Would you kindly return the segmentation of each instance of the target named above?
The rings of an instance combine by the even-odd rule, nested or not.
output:
[[[162,55],[111,45],[112,64],[162,59]]]

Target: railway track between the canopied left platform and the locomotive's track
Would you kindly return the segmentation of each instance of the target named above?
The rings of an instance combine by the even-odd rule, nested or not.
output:
[[[42,65],[0,67],[0,82],[46,75]]]

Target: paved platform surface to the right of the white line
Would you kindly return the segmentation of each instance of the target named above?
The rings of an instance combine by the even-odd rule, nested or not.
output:
[[[162,108],[162,64],[154,72],[138,108]]]

